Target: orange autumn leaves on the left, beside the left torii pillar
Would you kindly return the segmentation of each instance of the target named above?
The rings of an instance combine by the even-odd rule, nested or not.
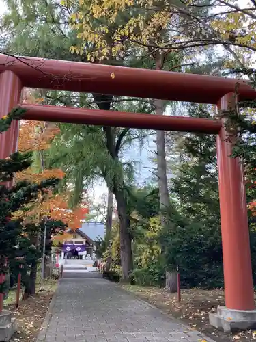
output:
[[[40,103],[41,101],[42,99],[35,100],[31,93],[25,95],[25,103]],[[30,120],[20,122],[18,150],[20,152],[33,151],[37,153],[41,165],[38,166],[38,170],[35,170],[32,166],[23,172],[18,172],[16,174],[17,181],[27,179],[33,183],[40,183],[50,178],[63,179],[65,173],[62,170],[44,168],[42,153],[51,146],[53,138],[58,133],[59,128],[52,122]],[[79,207],[70,210],[68,208],[68,198],[70,198],[70,192],[57,195],[53,194],[53,192],[40,194],[37,202],[29,204],[25,211],[16,213],[16,216],[23,217],[25,222],[37,223],[42,217],[51,213],[52,220],[61,220],[63,223],[68,224],[70,228],[78,228],[81,226],[81,220],[88,213],[88,209],[83,205],[83,208]]]

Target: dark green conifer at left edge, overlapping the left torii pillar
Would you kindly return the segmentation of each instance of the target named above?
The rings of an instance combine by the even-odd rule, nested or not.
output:
[[[12,120],[22,118],[24,112],[24,109],[16,108],[3,116],[0,120],[0,133],[9,129]],[[6,159],[0,159],[0,274],[8,274],[10,265],[16,269],[16,257],[23,257],[22,262],[26,265],[38,259],[38,253],[27,234],[31,227],[26,228],[22,219],[14,218],[13,214],[25,209],[28,203],[36,202],[39,192],[47,192],[59,183],[59,179],[47,179],[39,184],[25,180],[10,186],[16,172],[31,166],[31,157],[31,153],[13,153]],[[5,279],[0,285],[1,293],[7,291],[8,277]]]

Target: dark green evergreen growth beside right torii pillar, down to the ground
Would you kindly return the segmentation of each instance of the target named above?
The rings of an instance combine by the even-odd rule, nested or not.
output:
[[[211,118],[206,105],[189,104],[186,109],[190,117]],[[177,210],[169,215],[172,229],[167,225],[160,234],[165,261],[178,266],[184,285],[191,287],[223,286],[215,139],[192,133],[176,136],[180,163],[171,167],[170,188]]]

